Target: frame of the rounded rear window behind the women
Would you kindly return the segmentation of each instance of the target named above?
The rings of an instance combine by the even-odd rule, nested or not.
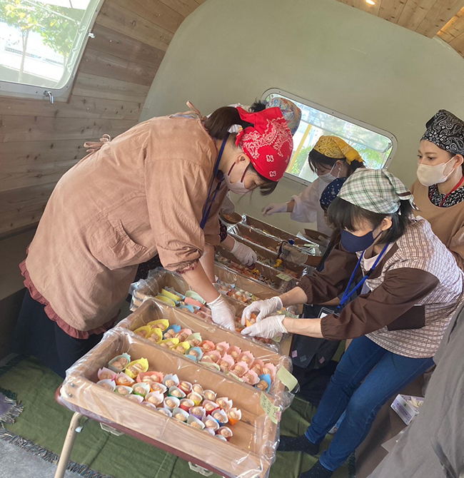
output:
[[[323,111],[323,113],[328,113],[343,121],[348,121],[348,123],[353,123],[356,126],[360,126],[361,128],[368,129],[369,131],[373,131],[374,133],[378,133],[387,137],[392,142],[392,148],[391,148],[390,155],[388,156],[387,161],[385,162],[385,166],[383,166],[383,168],[388,169],[388,166],[390,166],[390,163],[393,160],[393,156],[395,156],[395,153],[398,149],[398,141],[393,133],[390,133],[389,131],[385,131],[382,128],[378,128],[377,126],[364,123],[363,121],[352,118],[351,116],[348,116],[348,115],[344,115],[343,113],[338,113],[338,111],[335,111],[331,108],[326,108],[326,106],[322,106],[318,103],[314,103],[313,101],[309,101],[306,98],[301,98],[301,96],[295,95],[293,93],[289,93],[288,91],[282,90],[281,88],[269,88],[263,93],[263,95],[261,96],[261,100],[265,101],[266,98],[271,94],[277,94],[279,96],[284,96],[285,98],[288,98],[290,100],[298,101],[298,103],[303,103],[304,105],[309,106],[310,108]],[[292,180],[295,183],[303,184],[305,186],[308,186],[313,183],[310,180],[300,178],[299,176],[296,176],[292,173],[287,173],[287,172],[283,173],[283,177],[286,179]]]

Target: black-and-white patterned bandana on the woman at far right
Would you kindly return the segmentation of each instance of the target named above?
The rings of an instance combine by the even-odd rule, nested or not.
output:
[[[425,131],[422,139],[436,144],[438,148],[453,154],[464,156],[464,121],[453,113],[440,110],[425,123]]]

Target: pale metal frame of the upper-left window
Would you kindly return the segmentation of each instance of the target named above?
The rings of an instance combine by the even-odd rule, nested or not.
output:
[[[104,0],[99,0],[94,9],[94,13],[91,15],[89,20],[89,25],[86,28],[86,31],[83,33],[84,41],[81,44],[81,48],[78,54],[76,54],[76,61],[74,62],[71,75],[69,76],[68,81],[61,88],[50,88],[47,86],[34,86],[26,83],[16,83],[14,81],[4,81],[0,80],[0,97],[1,96],[13,96],[14,98],[34,98],[34,99],[45,99],[46,101],[51,101],[49,98],[49,93],[54,98],[54,101],[67,101],[69,98],[69,93],[71,93],[71,87],[74,84],[76,79],[77,70],[81,64],[82,57],[84,56],[84,51],[87,46],[87,42],[90,38],[94,38],[94,35],[91,33],[94,28],[96,17],[100,13],[101,6],[104,4]]]

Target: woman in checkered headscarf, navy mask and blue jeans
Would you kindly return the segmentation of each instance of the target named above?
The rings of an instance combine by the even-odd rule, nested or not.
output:
[[[330,447],[300,478],[329,478],[341,467],[363,442],[388,398],[433,365],[445,328],[463,302],[463,271],[430,224],[413,218],[412,200],[403,183],[388,171],[356,171],[328,210],[330,222],[341,229],[341,243],[333,248],[323,271],[303,277],[297,288],[280,298],[253,302],[243,311],[243,319],[251,312],[262,318],[246,327],[245,335],[293,332],[328,340],[354,339],[306,434],[281,437],[278,450],[316,455],[346,410]],[[339,313],[322,310],[312,319],[273,316],[283,305],[318,304],[343,290]]]

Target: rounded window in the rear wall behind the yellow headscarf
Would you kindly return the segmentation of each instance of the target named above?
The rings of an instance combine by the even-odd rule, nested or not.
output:
[[[386,131],[366,125],[353,118],[329,111],[309,101],[280,90],[268,90],[263,98],[282,96],[301,108],[301,123],[293,136],[293,155],[286,176],[301,183],[317,178],[308,164],[308,153],[321,136],[339,136],[353,146],[368,168],[385,168],[396,149],[395,137]]]

